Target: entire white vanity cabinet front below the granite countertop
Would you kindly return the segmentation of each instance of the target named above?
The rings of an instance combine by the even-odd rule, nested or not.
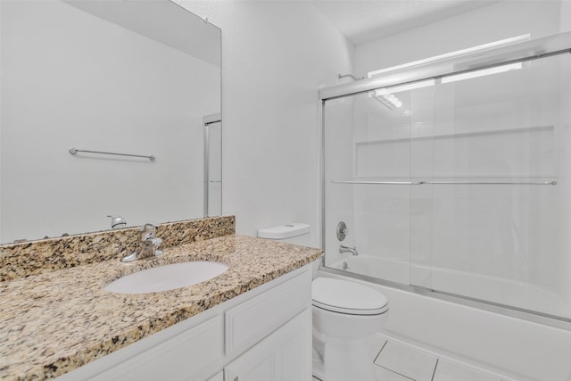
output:
[[[310,380],[310,303],[308,265],[59,379]]]

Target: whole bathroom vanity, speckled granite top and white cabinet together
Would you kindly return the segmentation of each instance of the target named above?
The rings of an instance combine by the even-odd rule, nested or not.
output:
[[[227,235],[175,245],[151,260],[113,258],[4,280],[0,378],[310,379],[310,263],[320,255]],[[182,261],[229,269],[161,293],[103,289]]]

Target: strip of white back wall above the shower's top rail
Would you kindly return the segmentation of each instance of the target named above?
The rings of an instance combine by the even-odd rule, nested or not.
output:
[[[501,1],[355,47],[355,75],[531,33],[539,38],[571,30],[560,24],[568,1]],[[568,17],[568,16],[567,16]],[[562,21],[562,20],[561,20]]]

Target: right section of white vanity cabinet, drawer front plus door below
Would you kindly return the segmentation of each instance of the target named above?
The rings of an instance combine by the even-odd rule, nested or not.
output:
[[[226,352],[244,354],[225,367],[224,381],[310,379],[308,279],[299,275],[226,311]]]

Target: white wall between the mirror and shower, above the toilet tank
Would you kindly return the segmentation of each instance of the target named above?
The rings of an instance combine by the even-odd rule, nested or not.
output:
[[[318,245],[318,88],[352,46],[305,2],[178,3],[222,29],[223,212],[245,235],[309,223]]]

